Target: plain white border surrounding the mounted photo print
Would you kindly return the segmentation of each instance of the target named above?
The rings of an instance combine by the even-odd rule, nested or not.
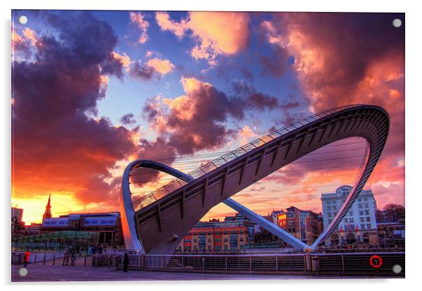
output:
[[[11,174],[11,9],[32,8],[32,9],[88,9],[88,10],[266,10],[266,11],[349,11],[349,12],[405,12],[406,13],[406,206],[407,206],[407,260],[405,280],[308,280],[308,281],[195,281],[195,282],[136,282],[136,283],[60,283],[61,290],[72,290],[73,285],[100,285],[101,290],[116,290],[119,285],[132,285],[123,288],[153,288],[175,289],[175,290],[257,290],[259,288],[295,288],[314,290],[315,288],[335,288],[341,290],[363,290],[372,288],[375,290],[405,290],[411,289],[418,284],[421,253],[421,193],[419,191],[419,180],[421,179],[421,8],[418,1],[329,1],[329,0],[307,0],[307,1],[245,1],[245,0],[160,0],[160,1],[136,1],[136,0],[13,0],[1,1],[1,58],[3,70],[1,70],[1,88],[4,90],[1,98],[1,175],[0,182],[3,185],[2,195],[4,199],[2,229],[6,236],[1,239],[3,252],[1,264],[2,283],[9,285],[7,289],[18,288],[31,290],[57,290],[56,285],[33,283],[29,285],[10,285],[10,262],[6,260],[10,252],[10,224],[8,217],[10,211]],[[271,285],[270,285],[271,284]],[[283,285],[281,285],[283,284]],[[137,287],[137,285],[142,285]],[[264,285],[264,286],[263,286]],[[329,286],[327,286],[329,285]],[[85,288],[84,288],[85,289]]]

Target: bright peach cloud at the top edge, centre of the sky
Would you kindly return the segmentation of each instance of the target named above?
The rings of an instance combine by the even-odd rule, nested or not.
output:
[[[191,31],[197,44],[191,50],[195,59],[216,64],[218,55],[233,55],[247,47],[250,17],[239,12],[190,12],[186,19],[175,22],[166,12],[156,13],[156,21],[163,31],[171,31],[178,38]]]

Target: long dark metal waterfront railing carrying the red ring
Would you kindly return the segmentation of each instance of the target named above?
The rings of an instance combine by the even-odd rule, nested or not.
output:
[[[381,267],[375,268],[370,259],[379,255]],[[123,256],[114,256],[111,262],[116,269],[123,267]],[[299,274],[383,274],[404,276],[404,252],[390,253],[308,253],[273,255],[129,255],[130,269],[161,269],[163,271],[206,271],[247,273],[299,273]],[[393,266],[400,265],[400,274]]]

